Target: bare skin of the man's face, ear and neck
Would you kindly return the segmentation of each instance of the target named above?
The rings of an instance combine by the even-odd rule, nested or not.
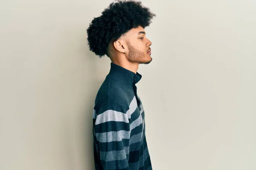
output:
[[[148,50],[152,42],[145,34],[143,27],[132,28],[125,35],[109,45],[111,62],[120,65],[136,74],[139,64],[149,64],[152,61]],[[126,54],[124,54],[126,51]]]

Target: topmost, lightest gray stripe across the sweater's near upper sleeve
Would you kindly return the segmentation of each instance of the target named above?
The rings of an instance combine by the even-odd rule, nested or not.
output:
[[[97,116],[95,125],[99,125],[108,121],[125,122],[128,123],[128,117],[125,113],[119,111],[108,110]]]

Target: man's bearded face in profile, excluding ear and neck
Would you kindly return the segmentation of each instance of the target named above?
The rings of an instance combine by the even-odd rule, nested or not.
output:
[[[152,61],[151,54],[148,53],[152,42],[145,37],[145,34],[145,30],[141,26],[133,28],[128,32],[128,61],[140,64],[148,64]]]

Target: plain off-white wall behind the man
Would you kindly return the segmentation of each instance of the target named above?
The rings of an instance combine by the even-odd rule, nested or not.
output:
[[[111,60],[86,29],[111,0],[1,0],[0,170],[93,170]],[[256,169],[256,1],[143,0],[138,95],[154,170]]]

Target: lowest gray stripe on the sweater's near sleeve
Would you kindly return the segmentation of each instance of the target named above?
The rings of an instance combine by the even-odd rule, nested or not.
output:
[[[100,159],[103,161],[116,161],[126,159],[124,150],[113,150],[109,152],[100,152]]]

